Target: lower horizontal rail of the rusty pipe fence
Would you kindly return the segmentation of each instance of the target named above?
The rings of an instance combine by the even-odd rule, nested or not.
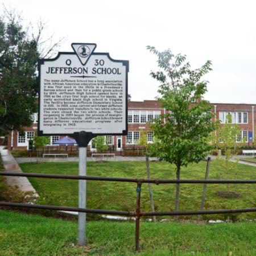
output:
[[[85,212],[85,213],[96,213],[96,214],[110,214],[110,215],[121,215],[121,216],[137,216],[138,213],[128,212],[123,210],[102,210],[102,209],[86,209],[86,208],[75,208],[75,207],[62,207],[56,205],[40,205],[40,204],[23,204],[23,203],[7,203],[0,202],[0,206],[3,207],[21,207],[21,208],[32,208],[32,209],[44,209],[44,210],[66,210],[69,212]],[[245,213],[245,212],[256,212],[256,208],[246,209],[222,209],[222,210],[190,210],[190,211],[170,211],[170,212],[140,212],[139,216],[176,216],[176,215],[198,215],[198,214],[220,214],[220,213]]]

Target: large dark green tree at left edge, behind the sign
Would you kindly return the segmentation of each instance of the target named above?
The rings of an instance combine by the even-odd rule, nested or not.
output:
[[[32,114],[37,112],[36,65],[43,52],[43,28],[44,24],[39,23],[36,35],[29,32],[15,11],[5,10],[0,17],[0,135],[30,126]]]

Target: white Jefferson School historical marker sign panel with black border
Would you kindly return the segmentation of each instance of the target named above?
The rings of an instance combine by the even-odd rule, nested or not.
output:
[[[39,60],[39,135],[127,134],[129,61],[73,43],[74,52]]]

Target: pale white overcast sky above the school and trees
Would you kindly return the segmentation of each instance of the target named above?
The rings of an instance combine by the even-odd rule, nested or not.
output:
[[[8,0],[5,6],[22,13],[24,23],[48,22],[46,35],[71,43],[96,43],[96,52],[130,61],[131,100],[154,100],[158,82],[156,56],[170,48],[187,55],[193,68],[212,60],[207,76],[210,102],[256,104],[255,1],[66,1]],[[1,6],[1,9],[3,7]]]

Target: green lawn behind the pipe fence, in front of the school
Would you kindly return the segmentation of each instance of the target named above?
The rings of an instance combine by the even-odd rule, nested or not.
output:
[[[191,164],[188,168],[182,168],[181,179],[204,179],[206,162]],[[23,163],[20,167],[24,172],[36,172],[46,174],[78,174],[78,163]],[[158,179],[175,179],[175,166],[165,162],[150,163],[151,177]],[[256,168],[238,164],[237,175],[230,172],[225,175],[219,162],[210,163],[209,179],[256,179]],[[90,176],[110,177],[146,177],[145,163],[142,162],[88,162],[87,174]],[[75,180],[56,180],[30,178],[32,185],[39,192],[42,204],[77,206],[77,184]],[[136,184],[117,183],[106,181],[87,181],[87,207],[94,209],[135,210]],[[180,210],[200,209],[201,193],[203,185],[180,185]],[[152,185],[156,210],[174,210],[175,185]],[[216,195],[218,191],[225,191],[226,185],[209,184],[205,200],[205,209],[236,209],[251,208],[256,205],[256,185],[237,184],[230,185],[230,191],[236,191],[240,197],[225,199]],[[150,209],[148,185],[142,185],[142,210]],[[183,218],[197,218],[187,216]],[[242,214],[218,214],[203,216],[204,219],[244,220],[256,218],[255,213]]]

